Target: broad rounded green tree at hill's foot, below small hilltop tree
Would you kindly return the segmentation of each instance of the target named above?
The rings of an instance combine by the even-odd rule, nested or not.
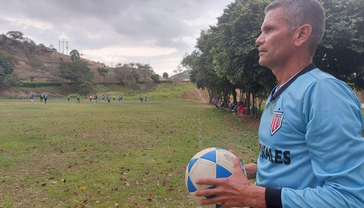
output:
[[[93,73],[86,61],[76,60],[74,62],[62,62],[59,66],[59,76],[68,79],[71,83],[80,84],[84,81],[91,81]]]

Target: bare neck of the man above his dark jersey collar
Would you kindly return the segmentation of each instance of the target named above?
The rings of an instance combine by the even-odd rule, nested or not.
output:
[[[286,64],[283,66],[270,69],[277,78],[280,85],[286,83],[292,76],[296,75],[310,63],[312,63],[312,57],[294,58],[291,60],[292,61],[286,62]]]

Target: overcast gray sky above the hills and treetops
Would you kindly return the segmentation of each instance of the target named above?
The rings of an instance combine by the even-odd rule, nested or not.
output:
[[[64,38],[68,54],[76,49],[109,66],[150,62],[155,73],[171,76],[231,1],[0,0],[0,33],[20,31],[61,53]]]

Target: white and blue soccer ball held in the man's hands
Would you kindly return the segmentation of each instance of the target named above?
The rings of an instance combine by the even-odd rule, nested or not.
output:
[[[202,199],[212,198],[214,196],[196,197],[194,191],[199,189],[213,189],[211,185],[197,185],[194,181],[198,178],[227,178],[234,172],[234,160],[236,156],[230,151],[220,148],[208,148],[197,152],[190,160],[186,169],[186,187],[192,199],[200,203]],[[244,165],[240,162],[241,169],[244,171]],[[201,205],[200,205],[201,206]],[[219,208],[220,205],[204,205],[202,208]]]

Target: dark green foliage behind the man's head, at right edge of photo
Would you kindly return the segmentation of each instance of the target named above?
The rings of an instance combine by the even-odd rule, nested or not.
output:
[[[364,1],[320,2],[326,10],[326,30],[314,63],[357,90],[364,89]]]

